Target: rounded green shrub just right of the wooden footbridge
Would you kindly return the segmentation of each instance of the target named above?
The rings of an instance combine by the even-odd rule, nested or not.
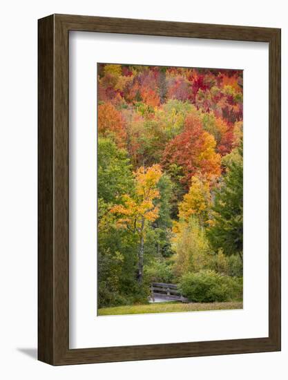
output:
[[[191,302],[226,302],[242,298],[242,278],[202,270],[182,276],[180,289]]]

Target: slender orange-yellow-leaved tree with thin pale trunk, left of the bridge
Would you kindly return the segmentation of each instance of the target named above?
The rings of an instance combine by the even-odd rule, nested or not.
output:
[[[123,204],[111,208],[111,213],[117,216],[117,226],[137,234],[140,238],[138,251],[137,280],[142,283],[144,264],[144,240],[146,227],[157,219],[159,208],[153,204],[153,200],[160,198],[157,189],[162,171],[158,164],[152,167],[140,167],[135,175],[135,196],[125,194],[122,197]]]

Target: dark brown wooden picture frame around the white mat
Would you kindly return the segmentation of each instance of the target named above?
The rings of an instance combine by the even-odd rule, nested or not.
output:
[[[280,29],[50,15],[39,19],[38,359],[52,365],[280,350]],[[69,32],[269,43],[269,336],[69,349]],[[260,216],[259,216],[260,217]]]

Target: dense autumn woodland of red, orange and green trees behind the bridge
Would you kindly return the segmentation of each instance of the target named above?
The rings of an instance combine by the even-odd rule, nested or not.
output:
[[[242,70],[98,64],[98,307],[242,297]]]

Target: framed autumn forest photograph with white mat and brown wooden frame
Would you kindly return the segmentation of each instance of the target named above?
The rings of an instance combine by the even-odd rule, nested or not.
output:
[[[39,20],[40,361],[280,350],[280,44]]]

